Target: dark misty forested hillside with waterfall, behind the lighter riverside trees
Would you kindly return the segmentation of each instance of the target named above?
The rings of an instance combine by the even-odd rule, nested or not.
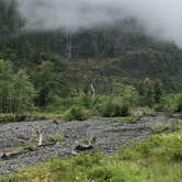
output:
[[[182,90],[182,50],[147,36],[135,19],[77,32],[27,31],[16,5],[0,1],[0,58],[14,75],[25,70],[35,105],[87,93],[90,84],[96,94],[117,94],[123,84],[139,91],[138,82],[158,79],[166,93]]]

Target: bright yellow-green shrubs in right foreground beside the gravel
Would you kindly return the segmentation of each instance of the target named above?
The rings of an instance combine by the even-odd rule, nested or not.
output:
[[[122,148],[120,159],[138,159],[158,157],[163,160],[182,160],[182,130],[169,135],[153,136],[149,141],[134,145],[132,148]]]

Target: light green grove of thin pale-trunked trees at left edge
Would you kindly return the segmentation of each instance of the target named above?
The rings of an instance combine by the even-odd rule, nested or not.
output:
[[[25,71],[15,72],[11,62],[0,60],[0,113],[33,110],[35,93]]]

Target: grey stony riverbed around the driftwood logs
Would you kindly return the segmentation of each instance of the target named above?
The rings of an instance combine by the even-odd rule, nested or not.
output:
[[[36,144],[38,129],[43,133],[43,143],[55,136],[66,138],[62,143],[45,145],[33,151],[5,159],[0,158],[0,177],[48,161],[55,156],[66,158],[83,152],[76,151],[76,145],[93,138],[94,150],[113,155],[120,146],[147,140],[156,133],[151,128],[164,126],[173,121],[166,115],[153,115],[144,116],[136,124],[122,123],[122,118],[91,118],[87,122],[71,123],[36,121],[0,124],[0,153],[26,146],[29,143]],[[178,125],[182,126],[182,120],[178,120]]]

